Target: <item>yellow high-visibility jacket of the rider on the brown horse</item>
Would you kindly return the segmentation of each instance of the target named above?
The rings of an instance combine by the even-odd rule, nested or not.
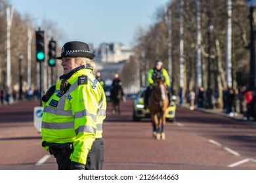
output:
[[[163,78],[165,79],[165,84],[168,87],[171,85],[170,84],[170,78],[169,78],[169,75],[168,75],[167,71],[163,68],[161,68],[160,71],[158,71],[157,69],[154,68],[154,69],[150,69],[148,71],[148,75],[147,75],[147,84],[148,84],[148,86],[153,85],[155,83],[156,78],[154,78],[154,77],[156,77],[155,76],[156,73],[160,73],[160,75],[163,76]]]

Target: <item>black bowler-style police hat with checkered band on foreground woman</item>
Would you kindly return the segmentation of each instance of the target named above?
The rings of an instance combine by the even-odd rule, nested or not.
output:
[[[56,59],[67,57],[95,58],[95,55],[90,52],[88,44],[81,41],[66,42],[62,47],[61,56]]]

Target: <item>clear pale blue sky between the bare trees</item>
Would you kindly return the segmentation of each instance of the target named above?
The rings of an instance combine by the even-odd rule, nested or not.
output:
[[[132,48],[138,29],[147,30],[154,25],[157,10],[167,7],[170,1],[9,0],[9,3],[22,18],[30,16],[38,27],[43,20],[53,22],[62,35],[56,40],[58,44],[83,41],[98,47],[102,42],[120,42]]]

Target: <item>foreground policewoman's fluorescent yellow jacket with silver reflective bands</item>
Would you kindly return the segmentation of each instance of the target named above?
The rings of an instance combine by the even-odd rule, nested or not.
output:
[[[81,69],[68,78],[66,93],[62,93],[64,81],[57,82],[54,94],[43,103],[42,142],[72,142],[71,161],[86,164],[93,142],[102,138],[106,96],[91,69]]]

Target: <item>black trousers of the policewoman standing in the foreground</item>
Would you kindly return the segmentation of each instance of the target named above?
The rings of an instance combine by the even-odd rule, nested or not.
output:
[[[49,147],[49,152],[56,158],[59,170],[70,170],[70,154],[73,150],[63,150]],[[104,142],[103,139],[95,139],[93,146],[87,156],[86,170],[102,170],[104,163]]]

